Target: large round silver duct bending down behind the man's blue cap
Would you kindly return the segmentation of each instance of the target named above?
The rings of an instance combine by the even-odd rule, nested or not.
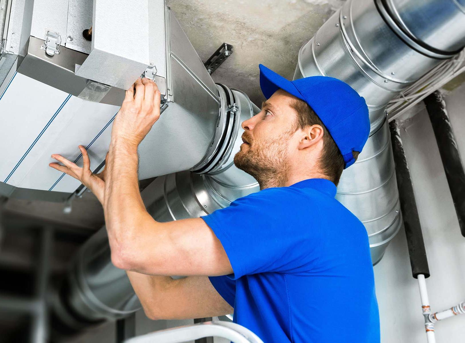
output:
[[[417,8],[417,17],[421,9],[427,11],[434,7],[440,12],[441,20],[425,21],[421,32],[429,35],[417,34],[417,41],[413,42],[399,33],[403,32],[401,28],[392,26],[395,21],[386,19],[389,15],[386,2],[402,3],[402,8],[413,6]],[[365,98],[370,137],[357,162],[342,173],[336,198],[365,225],[373,264],[383,257],[402,223],[385,108],[399,92],[452,56],[450,53],[438,55],[434,49],[425,52],[427,44],[422,44],[420,51],[422,38],[441,35],[441,45],[437,47],[446,52],[464,44],[465,13],[457,1],[457,6],[448,6],[445,10],[441,7],[442,0],[426,3],[428,6],[406,0],[347,1],[302,46],[294,74],[294,79],[314,75],[341,79]],[[453,23],[452,27],[459,28],[461,33],[443,34],[446,22]],[[403,24],[406,28],[418,27],[414,18]]]

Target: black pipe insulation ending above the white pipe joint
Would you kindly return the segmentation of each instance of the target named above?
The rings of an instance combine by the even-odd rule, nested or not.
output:
[[[397,188],[399,189],[400,209],[404,219],[405,236],[407,238],[408,253],[412,276],[417,278],[419,274],[430,276],[428,259],[426,257],[425,242],[421,231],[417,202],[413,194],[412,178],[405,157],[404,146],[400,139],[397,120],[389,123],[391,130],[392,152],[396,166]]]

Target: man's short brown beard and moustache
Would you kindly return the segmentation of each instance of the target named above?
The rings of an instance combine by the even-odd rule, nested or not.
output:
[[[283,133],[263,144],[254,142],[247,131],[242,137],[249,143],[249,147],[247,151],[241,149],[234,156],[236,167],[252,175],[258,181],[260,189],[285,185],[289,171],[286,142],[290,133]]]

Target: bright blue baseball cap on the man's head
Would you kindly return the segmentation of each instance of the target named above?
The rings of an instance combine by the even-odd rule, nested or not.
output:
[[[260,64],[260,87],[266,99],[282,89],[304,100],[326,126],[344,158],[344,169],[355,162],[370,134],[365,99],[345,82],[328,76],[289,81]]]

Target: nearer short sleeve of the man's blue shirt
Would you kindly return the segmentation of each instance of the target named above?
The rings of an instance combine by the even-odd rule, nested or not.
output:
[[[299,190],[269,188],[202,219],[223,245],[234,279],[264,272],[305,272],[318,242],[318,230],[308,224],[311,207],[318,212]]]

